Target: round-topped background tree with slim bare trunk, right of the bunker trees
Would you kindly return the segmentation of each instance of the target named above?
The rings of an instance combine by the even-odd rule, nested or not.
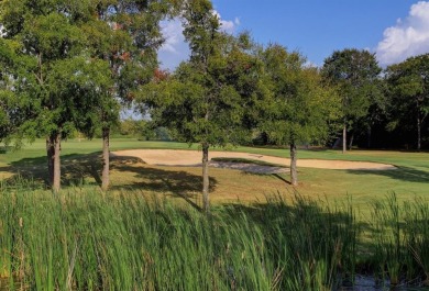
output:
[[[377,79],[381,71],[375,55],[367,51],[336,51],[324,59],[322,76],[329,83],[338,87],[341,96],[343,153],[346,152],[348,128],[366,116],[374,96],[380,92]]]

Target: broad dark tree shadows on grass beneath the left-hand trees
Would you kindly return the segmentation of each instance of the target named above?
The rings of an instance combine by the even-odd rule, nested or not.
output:
[[[11,163],[10,166],[0,167],[0,171],[11,172],[6,179],[8,186],[23,183],[30,189],[48,188],[46,157],[24,158]],[[101,186],[101,157],[100,153],[87,155],[62,156],[62,186]],[[133,157],[111,157],[110,169],[119,171],[123,177],[120,184],[112,186],[111,190],[143,190],[157,193],[168,193],[187,201],[196,209],[200,209],[194,201],[202,190],[202,179],[184,170],[164,170],[143,166],[143,161]],[[132,176],[132,179],[129,178]],[[209,178],[210,191],[217,187],[217,179]],[[31,186],[31,187],[29,187]]]

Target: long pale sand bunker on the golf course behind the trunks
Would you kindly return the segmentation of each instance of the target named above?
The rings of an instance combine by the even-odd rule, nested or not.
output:
[[[158,166],[200,166],[201,152],[198,150],[178,150],[178,149],[130,149],[111,153],[112,156],[128,156],[142,159],[148,165]],[[265,156],[258,154],[237,153],[237,152],[209,152],[209,159],[212,158],[244,158],[258,161],[265,161],[276,165],[288,166],[290,159]],[[276,174],[285,172],[288,169],[276,166],[261,166],[245,163],[226,163],[211,161],[211,167],[238,169],[256,174]],[[393,170],[393,165],[369,163],[369,161],[349,161],[349,160],[326,160],[326,159],[298,159],[298,167],[337,169],[337,170]]]

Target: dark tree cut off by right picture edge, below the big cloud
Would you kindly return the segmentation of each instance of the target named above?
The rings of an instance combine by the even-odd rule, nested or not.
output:
[[[429,114],[429,54],[407,58],[386,69],[391,89],[391,127],[406,126],[413,116],[417,130],[417,149],[421,149],[421,131]]]

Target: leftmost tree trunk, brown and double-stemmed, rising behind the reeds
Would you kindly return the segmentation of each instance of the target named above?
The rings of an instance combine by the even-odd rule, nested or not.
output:
[[[47,171],[50,175],[50,186],[54,193],[61,189],[61,133],[53,133],[46,138]]]

